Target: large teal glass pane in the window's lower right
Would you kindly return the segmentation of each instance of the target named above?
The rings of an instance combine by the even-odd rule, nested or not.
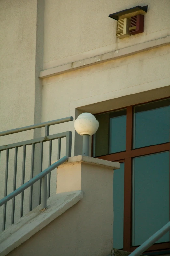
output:
[[[133,159],[132,246],[169,221],[169,152]],[[157,243],[169,241],[169,232]]]

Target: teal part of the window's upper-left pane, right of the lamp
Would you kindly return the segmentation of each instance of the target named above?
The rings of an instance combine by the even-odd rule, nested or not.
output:
[[[110,114],[109,153],[126,150],[126,109]]]

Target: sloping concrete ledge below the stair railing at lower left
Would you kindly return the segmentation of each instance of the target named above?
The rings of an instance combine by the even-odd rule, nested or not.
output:
[[[82,198],[82,191],[65,192],[49,198],[45,211],[40,211],[40,206],[36,207],[0,234],[0,255],[7,255]]]

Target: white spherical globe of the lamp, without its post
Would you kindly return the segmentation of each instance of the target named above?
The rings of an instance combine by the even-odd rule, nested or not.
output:
[[[99,128],[99,122],[90,113],[83,113],[74,122],[74,128],[80,135],[93,135]]]

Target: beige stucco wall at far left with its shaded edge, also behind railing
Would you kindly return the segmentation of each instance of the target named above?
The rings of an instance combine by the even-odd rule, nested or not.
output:
[[[43,1],[0,1],[0,131],[41,122],[42,83],[38,78],[43,64]],[[42,20],[42,21],[41,21]],[[38,25],[41,23],[41,27]],[[38,38],[38,39],[37,39]],[[41,40],[41,42],[39,42]],[[37,50],[37,48],[39,48]],[[40,133],[39,133],[40,135]],[[1,145],[39,136],[28,131],[1,137]],[[5,154],[1,154],[0,197],[4,196]],[[27,148],[25,181],[30,179],[31,148]],[[13,189],[14,149],[9,154],[8,190]],[[18,150],[17,187],[21,185],[22,148]],[[29,191],[25,192],[29,199]],[[19,196],[16,197],[16,219],[20,214]],[[0,209],[2,216],[3,207]],[[26,206],[25,211],[28,211]],[[10,223],[11,202],[7,204],[7,226]],[[0,218],[0,229],[1,229]]]

